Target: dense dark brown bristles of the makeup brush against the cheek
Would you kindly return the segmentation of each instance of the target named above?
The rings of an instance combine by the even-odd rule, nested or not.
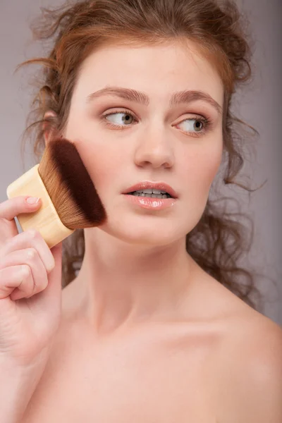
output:
[[[67,228],[91,228],[104,223],[105,209],[73,142],[66,138],[51,140],[38,172]]]

